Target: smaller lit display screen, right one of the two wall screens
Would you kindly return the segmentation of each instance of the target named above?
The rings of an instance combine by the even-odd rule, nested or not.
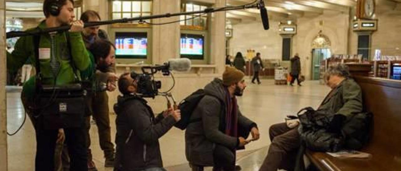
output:
[[[181,34],[181,58],[203,60],[204,42],[203,35]]]

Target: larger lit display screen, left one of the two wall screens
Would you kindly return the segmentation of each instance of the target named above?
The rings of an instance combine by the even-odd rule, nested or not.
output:
[[[116,32],[115,48],[116,58],[146,59],[148,35],[146,32]]]

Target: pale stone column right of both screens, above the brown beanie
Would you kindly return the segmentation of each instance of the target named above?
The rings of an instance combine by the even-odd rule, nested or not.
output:
[[[223,7],[226,0],[216,0],[214,8]],[[223,74],[225,67],[225,12],[215,12],[211,17],[211,64],[217,66],[216,73]]]

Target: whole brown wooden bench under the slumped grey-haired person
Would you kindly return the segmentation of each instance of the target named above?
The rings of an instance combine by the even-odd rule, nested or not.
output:
[[[373,113],[371,140],[361,150],[369,159],[338,159],[306,151],[321,171],[401,171],[401,81],[354,76],[363,92],[363,103]]]

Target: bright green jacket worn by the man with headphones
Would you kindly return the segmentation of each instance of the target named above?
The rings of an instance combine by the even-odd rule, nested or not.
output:
[[[38,28],[44,29],[46,28],[45,20],[42,21]],[[34,30],[35,28],[31,28],[29,30]],[[82,36],[80,32],[62,32],[57,33],[55,35],[55,54],[57,60],[60,62],[60,71],[55,79],[56,85],[64,85],[75,82],[75,75],[73,68],[70,62],[70,51],[67,46],[67,37],[66,33],[69,34],[70,43],[71,43],[71,56],[72,61],[74,62],[75,67],[79,71],[86,70],[90,65],[89,54],[85,48],[85,45],[82,40]],[[44,34],[40,38],[39,48],[50,48],[51,41],[50,35]],[[7,53],[7,69],[14,71],[24,65],[26,60],[30,60],[33,66],[36,66],[36,58],[34,56],[34,43],[33,36],[24,36],[18,39],[15,44],[14,51],[10,54]],[[41,59],[41,72],[43,75],[43,84],[54,84],[54,76],[51,72],[51,68],[49,65],[50,59]],[[23,92],[27,95],[27,97],[32,97],[34,94],[34,80],[35,77],[30,78],[28,82],[24,84]]]

